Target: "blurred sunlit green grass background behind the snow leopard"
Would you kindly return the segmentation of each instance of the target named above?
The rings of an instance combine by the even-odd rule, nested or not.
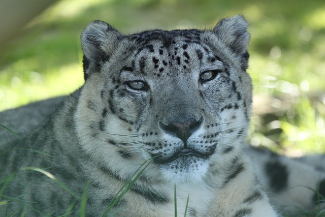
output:
[[[134,33],[212,28],[235,14],[250,23],[255,109],[249,141],[296,156],[325,152],[323,0],[58,1],[0,51],[0,110],[82,85],[80,33],[92,20]]]

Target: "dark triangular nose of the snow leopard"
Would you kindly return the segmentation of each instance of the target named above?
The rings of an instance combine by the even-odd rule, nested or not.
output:
[[[192,135],[194,131],[196,131],[200,127],[202,122],[202,117],[199,121],[194,118],[190,118],[185,122],[172,121],[169,123],[169,125],[164,125],[164,123],[160,123],[160,127],[166,133],[180,138],[186,146],[187,139],[190,137],[190,135]]]

